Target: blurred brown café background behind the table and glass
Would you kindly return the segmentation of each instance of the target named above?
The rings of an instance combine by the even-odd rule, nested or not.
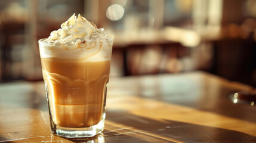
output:
[[[42,80],[38,40],[73,13],[114,39],[110,76],[202,70],[256,87],[255,0],[0,0],[0,82]]]

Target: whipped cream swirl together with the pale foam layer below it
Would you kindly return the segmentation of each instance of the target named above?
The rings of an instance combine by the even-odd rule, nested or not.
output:
[[[42,58],[76,58],[84,61],[110,60],[113,40],[104,29],[97,29],[80,14],[75,14],[54,30],[48,38],[39,40]]]

